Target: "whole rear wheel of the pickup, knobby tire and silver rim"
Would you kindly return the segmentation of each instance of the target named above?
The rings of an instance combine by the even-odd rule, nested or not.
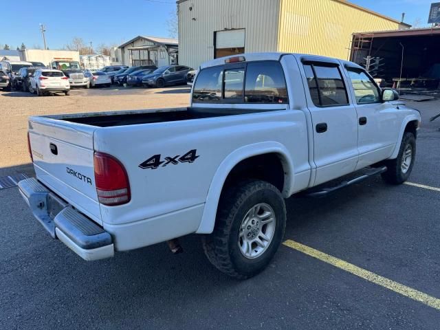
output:
[[[202,237],[208,260],[234,278],[250,278],[270,263],[281,244],[286,208],[279,190],[266,181],[225,188],[212,234]]]

